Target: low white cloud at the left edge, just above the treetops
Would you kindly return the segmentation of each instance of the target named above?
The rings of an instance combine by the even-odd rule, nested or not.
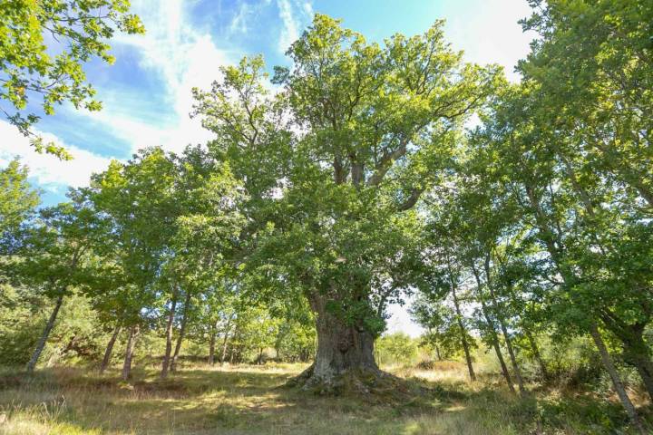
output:
[[[73,160],[62,161],[49,154],[38,154],[14,125],[0,120],[0,166],[6,166],[15,157],[29,168],[30,177],[44,189],[61,191],[70,186],[79,188],[87,186],[93,172],[106,169],[111,159],[93,154],[87,150],[66,145],[50,133],[36,131],[46,141],[57,145],[73,155]]]

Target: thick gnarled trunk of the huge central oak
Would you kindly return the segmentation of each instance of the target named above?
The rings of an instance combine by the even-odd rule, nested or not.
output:
[[[345,372],[381,373],[375,362],[375,337],[371,333],[328,313],[324,296],[313,295],[310,304],[316,313],[317,354],[306,372],[306,386],[333,386],[336,378]]]

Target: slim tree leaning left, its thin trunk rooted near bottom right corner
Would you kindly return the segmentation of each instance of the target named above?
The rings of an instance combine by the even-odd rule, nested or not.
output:
[[[648,224],[641,220],[636,202],[617,206],[617,201],[624,204],[621,201],[628,199],[617,194],[619,180],[613,184],[612,179],[595,177],[596,173],[588,170],[584,172],[584,187],[590,189],[578,189],[578,179],[571,174],[566,156],[560,152],[560,145],[566,145],[567,139],[551,130],[544,119],[525,112],[526,108],[537,107],[540,101],[538,93],[531,91],[524,85],[505,92],[492,119],[476,137],[478,154],[484,156],[483,171],[485,177],[511,192],[519,205],[517,216],[548,257],[549,279],[554,284],[551,290],[555,292],[549,300],[553,303],[551,314],[555,324],[566,333],[590,333],[619,398],[633,424],[640,428],[628,395],[622,394],[611,357],[603,352],[606,346],[599,326],[619,337],[627,350],[646,349],[635,343],[641,343],[638,329],[650,322],[650,303],[648,296],[635,288],[647,286],[648,273],[638,268],[638,262],[629,267],[610,258],[619,256],[619,245],[638,246],[636,256],[648,256],[648,249],[642,250],[640,245],[646,243],[647,231],[641,229]],[[583,200],[583,191],[597,196],[591,201]],[[606,212],[605,220],[590,211],[599,204],[611,204],[609,208],[600,207]],[[601,231],[603,228],[605,232]],[[636,228],[638,237],[626,236]],[[619,243],[614,243],[617,240]],[[615,285],[625,281],[631,285]],[[638,354],[646,355],[641,351]],[[638,368],[645,385],[647,360],[650,361],[646,356],[639,360]]]

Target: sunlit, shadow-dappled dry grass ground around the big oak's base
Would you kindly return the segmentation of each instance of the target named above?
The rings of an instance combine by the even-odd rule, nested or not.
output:
[[[304,367],[189,365],[161,382],[152,364],[129,384],[118,381],[117,370],[101,377],[51,368],[31,379],[5,370],[0,434],[629,433],[615,401],[551,388],[520,400],[491,373],[467,382],[458,362],[429,371],[386,368],[422,391],[386,402],[282,387]]]

